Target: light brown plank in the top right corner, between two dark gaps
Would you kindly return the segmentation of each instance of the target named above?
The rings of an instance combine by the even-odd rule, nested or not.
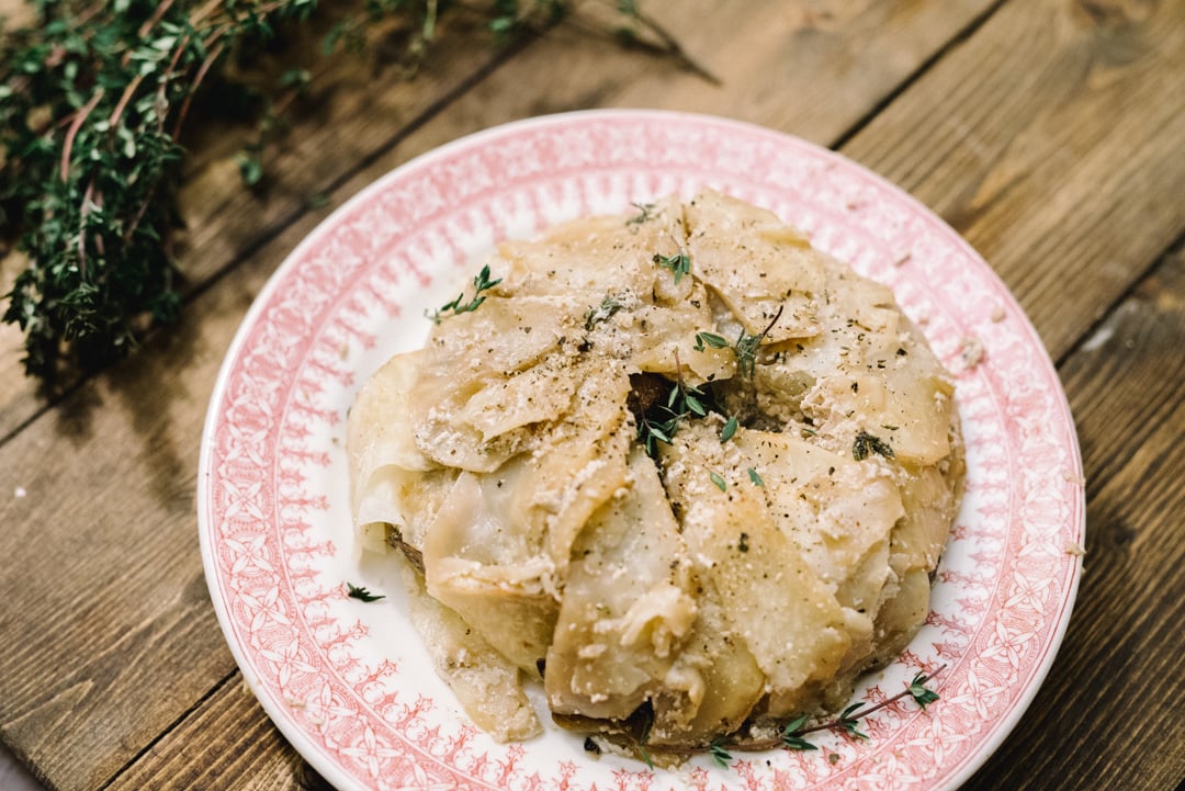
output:
[[[937,211],[1057,359],[1185,229],[1185,2],[1010,2],[844,152]]]

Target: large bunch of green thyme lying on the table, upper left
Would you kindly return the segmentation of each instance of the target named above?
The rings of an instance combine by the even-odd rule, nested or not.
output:
[[[172,238],[182,224],[175,194],[190,108],[212,84],[231,84],[228,63],[307,26],[318,2],[31,2],[34,24],[0,28],[0,226],[27,258],[6,295],[4,321],[24,333],[26,372],[52,379],[63,361],[103,365],[134,347],[153,320],[178,315]],[[354,15],[335,9],[322,50],[358,49],[370,26],[398,18],[417,31],[401,57],[417,60],[446,13],[482,14],[492,40],[505,40],[555,21],[569,5],[359,0],[350,5]],[[616,0],[614,12],[628,39],[645,45],[645,30],[646,49],[694,65],[635,0]],[[302,88],[308,75],[284,72],[277,97]],[[257,143],[248,143],[241,166],[244,181],[260,179]]]

